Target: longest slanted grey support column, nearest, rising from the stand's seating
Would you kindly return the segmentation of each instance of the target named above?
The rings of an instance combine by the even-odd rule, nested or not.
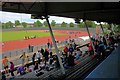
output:
[[[46,17],[46,21],[47,21],[47,23],[48,23],[50,35],[51,35],[51,38],[52,38],[53,45],[54,45],[54,47],[55,47],[55,52],[56,52],[56,54],[57,54],[57,57],[58,57],[58,60],[59,60],[59,64],[60,64],[62,73],[65,74],[65,70],[64,70],[64,67],[63,67],[63,64],[62,64],[62,60],[61,60],[61,58],[60,58],[60,56],[59,56],[59,50],[58,50],[58,47],[57,47],[57,45],[56,45],[55,38],[54,38],[54,35],[53,35],[53,32],[52,32],[52,29],[51,29],[51,26],[50,26],[48,17]]]

